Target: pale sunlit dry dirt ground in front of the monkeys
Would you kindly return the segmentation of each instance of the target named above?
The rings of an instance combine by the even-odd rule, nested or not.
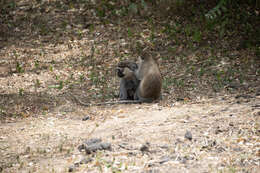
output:
[[[260,97],[80,108],[1,124],[2,172],[259,171]],[[86,116],[89,119],[82,121]],[[189,131],[192,137],[185,137]],[[87,155],[86,139],[111,143]],[[142,147],[147,148],[143,149]]]

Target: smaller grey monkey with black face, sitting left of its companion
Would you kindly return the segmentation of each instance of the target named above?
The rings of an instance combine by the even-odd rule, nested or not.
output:
[[[135,71],[138,66],[134,62],[129,62],[129,67],[116,68],[117,76],[120,79],[119,99],[134,100],[134,95],[139,85],[139,80],[136,78]]]

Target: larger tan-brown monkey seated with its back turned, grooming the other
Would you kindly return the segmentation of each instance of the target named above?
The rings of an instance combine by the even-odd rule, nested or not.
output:
[[[118,67],[131,67],[129,62],[121,62]],[[153,102],[161,96],[162,76],[157,62],[147,54],[139,57],[138,68],[135,70],[135,76],[140,81],[134,95],[134,101]]]

